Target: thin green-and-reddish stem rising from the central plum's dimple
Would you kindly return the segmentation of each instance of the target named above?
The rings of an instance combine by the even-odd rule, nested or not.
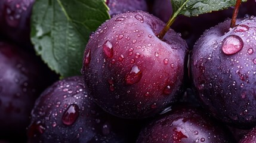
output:
[[[180,11],[183,10],[183,7],[187,4],[189,0],[185,1],[180,8],[178,8],[177,11],[175,11],[174,13],[172,13],[171,17],[169,18],[169,21],[166,23],[164,29],[157,35],[159,39],[163,39],[166,32],[168,32],[170,26],[172,23],[174,23],[174,21],[176,20],[177,16],[180,14]]]

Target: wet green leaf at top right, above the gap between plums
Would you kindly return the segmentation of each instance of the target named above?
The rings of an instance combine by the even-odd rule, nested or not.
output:
[[[245,1],[242,0],[242,2]],[[224,10],[235,5],[236,0],[171,0],[171,3],[174,14],[191,17]]]

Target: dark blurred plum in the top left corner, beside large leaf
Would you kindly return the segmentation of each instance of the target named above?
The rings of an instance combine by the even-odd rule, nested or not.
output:
[[[30,44],[30,15],[35,0],[1,0],[0,33],[16,43]]]

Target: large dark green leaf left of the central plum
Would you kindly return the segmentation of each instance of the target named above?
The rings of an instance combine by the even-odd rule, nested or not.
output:
[[[90,37],[110,18],[104,0],[36,0],[31,40],[48,66],[63,77],[79,75]]]

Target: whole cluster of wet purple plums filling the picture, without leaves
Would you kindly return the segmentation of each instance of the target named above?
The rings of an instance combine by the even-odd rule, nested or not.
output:
[[[160,35],[169,0],[107,0],[64,79],[35,56],[34,2],[0,1],[0,142],[256,142],[256,1]]]

